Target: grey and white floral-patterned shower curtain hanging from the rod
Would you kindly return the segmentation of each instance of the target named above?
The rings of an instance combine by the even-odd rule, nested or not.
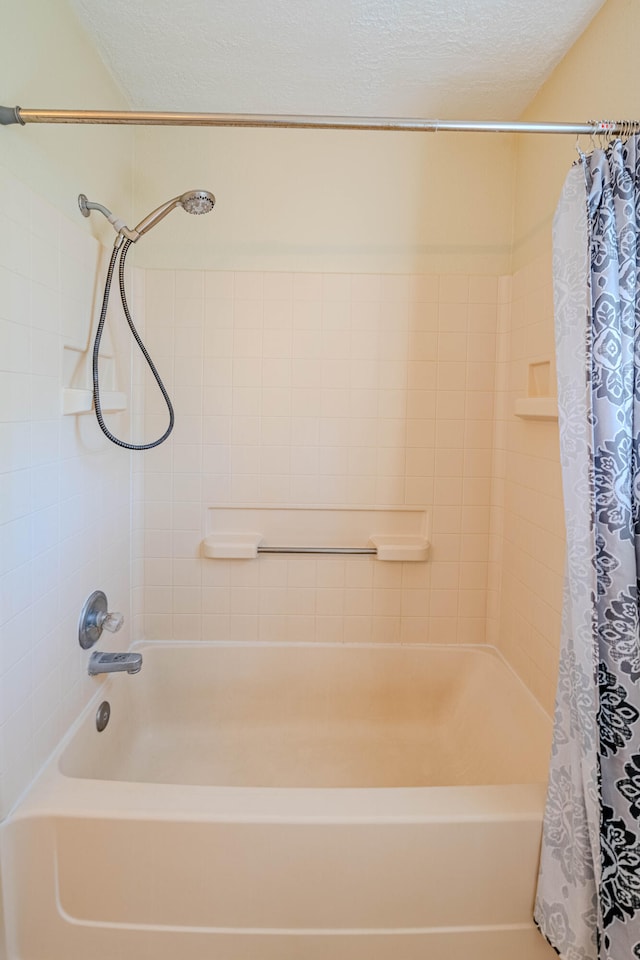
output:
[[[567,570],[535,919],[640,958],[640,138],[582,156],[554,221]]]

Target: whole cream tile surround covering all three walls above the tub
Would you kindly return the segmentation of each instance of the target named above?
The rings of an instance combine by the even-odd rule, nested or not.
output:
[[[60,415],[62,386],[86,364],[104,256],[5,173],[0,191],[6,812],[95,689],[76,640],[84,598],[102,587],[128,612],[130,459],[91,417]],[[146,300],[177,426],[134,459],[134,636],[488,639],[549,706],[563,550],[557,427],[512,415],[527,359],[552,351],[549,277],[546,262],[513,286],[137,271],[135,314],[145,317]],[[116,346],[107,351],[126,390],[128,344]],[[134,428],[162,432],[148,378],[134,394],[146,411]],[[126,415],[110,423],[127,435]],[[220,503],[423,506],[430,561],[203,560],[205,511]],[[126,631],[115,642],[126,645]]]

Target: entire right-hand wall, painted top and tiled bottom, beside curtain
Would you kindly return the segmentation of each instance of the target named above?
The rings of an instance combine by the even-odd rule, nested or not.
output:
[[[639,40],[637,0],[608,0],[523,119],[637,118]],[[580,145],[591,149],[587,137]],[[499,338],[489,635],[547,709],[555,694],[564,555],[558,428],[518,420],[513,406],[526,394],[529,363],[553,359],[552,218],[575,159],[572,137],[519,138],[511,316]]]

